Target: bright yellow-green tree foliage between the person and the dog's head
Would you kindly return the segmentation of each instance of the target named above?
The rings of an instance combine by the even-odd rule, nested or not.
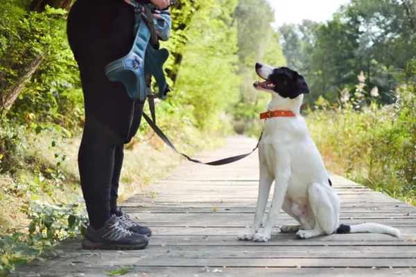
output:
[[[175,87],[175,101],[192,109],[198,127],[211,132],[224,126],[223,111],[238,95],[235,7],[234,0],[207,2],[193,17]]]

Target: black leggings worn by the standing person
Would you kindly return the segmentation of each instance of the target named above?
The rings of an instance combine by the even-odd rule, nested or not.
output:
[[[123,84],[110,82],[104,71],[106,64],[130,51],[134,23],[134,9],[121,0],[78,0],[67,21],[85,99],[78,167],[94,229],[116,211],[124,144],[139,129],[144,106],[144,101],[128,97]]]

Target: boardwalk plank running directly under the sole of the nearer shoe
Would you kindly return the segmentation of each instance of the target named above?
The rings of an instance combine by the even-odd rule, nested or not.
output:
[[[222,246],[203,246],[196,248],[193,246],[170,246],[159,247],[157,244],[150,244],[146,251],[86,251],[80,249],[80,243],[72,243],[59,247],[64,254],[62,258],[71,258],[85,253],[85,255],[99,255],[103,258],[123,258],[125,255],[141,258],[159,257],[160,255],[169,258],[415,258],[415,247],[399,247],[393,249],[386,246],[314,246],[306,247],[303,245],[293,246],[270,246],[268,247],[222,247]],[[329,251],[330,250],[330,251]],[[97,254],[95,254],[97,253]],[[244,255],[242,255],[244,254]]]

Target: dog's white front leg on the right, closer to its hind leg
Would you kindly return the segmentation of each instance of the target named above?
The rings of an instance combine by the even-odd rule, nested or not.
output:
[[[290,167],[285,168],[285,170],[279,170],[279,172],[281,173],[277,174],[275,179],[275,192],[273,193],[272,205],[268,212],[266,226],[261,233],[254,235],[254,242],[267,242],[270,240],[272,229],[276,226],[277,217],[279,216],[286,191],[288,190],[289,180],[291,179]]]

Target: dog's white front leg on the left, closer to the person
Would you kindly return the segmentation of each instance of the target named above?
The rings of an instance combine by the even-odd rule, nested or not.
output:
[[[264,212],[266,211],[267,200],[272,186],[272,176],[269,174],[265,166],[260,168],[259,196],[257,199],[256,213],[254,222],[248,233],[241,233],[239,240],[253,240],[254,235],[259,231],[261,222],[263,222]]]

